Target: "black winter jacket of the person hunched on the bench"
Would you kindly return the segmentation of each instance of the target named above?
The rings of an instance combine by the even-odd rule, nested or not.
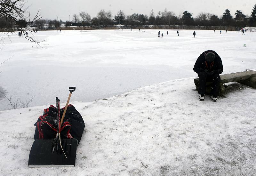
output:
[[[213,62],[206,62],[205,55],[208,52],[213,52],[215,54],[215,58]],[[209,71],[213,71],[214,74],[218,74],[218,75],[220,75],[223,72],[221,58],[215,51],[207,50],[197,58],[195,66],[193,68],[194,72],[196,73],[203,72],[205,69]]]

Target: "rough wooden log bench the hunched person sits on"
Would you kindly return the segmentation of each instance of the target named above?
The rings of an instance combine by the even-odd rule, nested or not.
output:
[[[245,84],[247,86],[256,88],[256,71],[243,71],[243,72],[237,72],[237,73],[229,73],[225,75],[220,75],[220,86],[219,86],[219,95],[225,91],[224,83],[230,83],[230,82],[238,82],[241,84]],[[199,79],[194,79],[194,83],[196,85],[196,89],[199,88]],[[211,85],[212,82],[206,83],[206,93],[211,93]]]

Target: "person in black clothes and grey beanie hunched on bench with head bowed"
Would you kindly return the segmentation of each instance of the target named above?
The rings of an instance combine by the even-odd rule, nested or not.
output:
[[[196,60],[193,68],[199,78],[199,100],[204,101],[206,82],[212,82],[211,97],[212,101],[217,101],[220,85],[220,74],[223,66],[220,56],[213,50],[203,52]]]

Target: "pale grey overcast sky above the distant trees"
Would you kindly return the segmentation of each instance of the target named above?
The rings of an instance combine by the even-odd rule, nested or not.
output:
[[[241,10],[245,15],[250,15],[252,7],[256,4],[253,0],[28,0],[26,5],[31,5],[28,9],[31,15],[40,9],[43,19],[72,20],[73,14],[79,14],[80,11],[88,12],[91,17],[96,17],[97,13],[104,9],[110,10],[112,16],[122,9],[125,15],[132,13],[143,13],[149,15],[151,9],[155,15],[158,11],[174,12],[179,16],[180,12],[188,11],[194,13],[196,17],[199,12],[210,12],[218,15],[223,14],[225,9],[229,9],[234,17],[236,10]]]

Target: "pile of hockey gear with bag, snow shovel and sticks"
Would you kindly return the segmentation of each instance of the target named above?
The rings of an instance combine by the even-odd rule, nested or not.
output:
[[[75,167],[76,149],[85,127],[84,120],[76,108],[68,105],[75,89],[69,87],[70,93],[65,108],[60,109],[56,98],[56,108],[51,105],[44,109],[44,115],[38,118],[28,167]]]

